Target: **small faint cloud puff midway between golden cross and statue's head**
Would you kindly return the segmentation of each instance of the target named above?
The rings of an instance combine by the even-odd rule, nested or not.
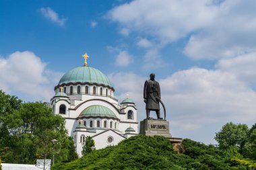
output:
[[[120,67],[127,67],[133,62],[133,56],[129,54],[127,51],[120,51],[117,54],[117,58],[115,60],[115,65]]]

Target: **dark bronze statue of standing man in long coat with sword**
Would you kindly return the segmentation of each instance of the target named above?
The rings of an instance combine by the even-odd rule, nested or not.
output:
[[[157,81],[155,81],[154,73],[151,73],[150,79],[145,81],[143,97],[144,97],[144,102],[146,103],[147,119],[150,119],[151,110],[156,111],[156,116],[158,117],[158,119],[162,119],[160,118],[160,106],[159,106],[159,102],[162,103],[160,85]],[[164,114],[165,114],[165,108],[164,108]],[[165,120],[165,116],[164,116],[164,120]]]

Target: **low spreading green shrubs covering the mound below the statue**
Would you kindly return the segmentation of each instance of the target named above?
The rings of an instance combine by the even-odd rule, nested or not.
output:
[[[52,169],[238,169],[224,159],[225,153],[184,139],[184,154],[176,153],[172,144],[162,136],[133,136],[117,146],[93,151],[71,163],[59,163]],[[241,167],[245,167],[241,165]]]

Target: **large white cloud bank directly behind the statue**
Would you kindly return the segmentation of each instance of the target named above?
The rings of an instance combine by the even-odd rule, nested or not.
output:
[[[123,100],[129,93],[137,104],[138,120],[146,118],[143,83],[148,77],[133,73],[115,73],[108,77],[120,92],[117,98]],[[248,123],[256,119],[255,91],[230,73],[192,68],[165,79],[158,79],[156,75],[156,80],[160,83],[174,137],[214,143],[215,132],[226,122]],[[156,117],[154,112],[151,114]]]

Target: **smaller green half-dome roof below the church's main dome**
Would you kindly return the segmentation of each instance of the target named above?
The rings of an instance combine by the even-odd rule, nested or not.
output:
[[[117,116],[114,112],[103,105],[91,105],[81,112],[79,117],[92,117],[92,118],[114,118]]]

